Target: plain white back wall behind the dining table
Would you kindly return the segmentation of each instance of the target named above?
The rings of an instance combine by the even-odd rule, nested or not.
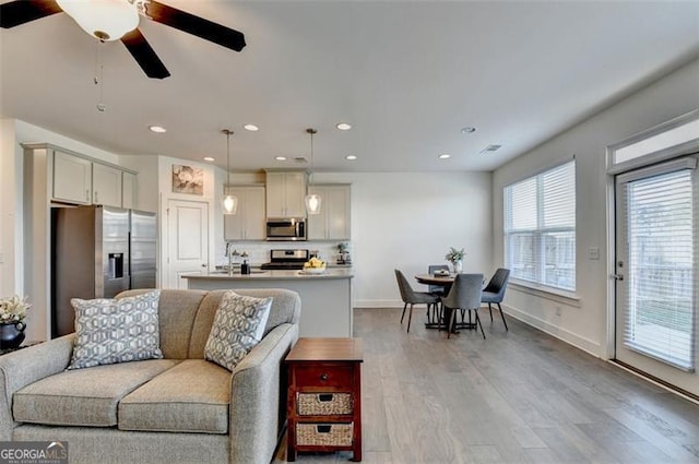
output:
[[[315,174],[352,185],[355,307],[403,306],[394,269],[412,276],[464,248],[464,272],[494,271],[489,172]]]

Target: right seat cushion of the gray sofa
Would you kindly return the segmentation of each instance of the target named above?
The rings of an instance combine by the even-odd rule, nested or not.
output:
[[[119,403],[119,429],[228,432],[230,372],[188,359],[137,389]]]

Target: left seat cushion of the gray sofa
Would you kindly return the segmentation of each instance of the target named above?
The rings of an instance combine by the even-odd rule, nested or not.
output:
[[[119,400],[178,362],[151,359],[63,371],[15,392],[12,414],[20,423],[116,426]]]

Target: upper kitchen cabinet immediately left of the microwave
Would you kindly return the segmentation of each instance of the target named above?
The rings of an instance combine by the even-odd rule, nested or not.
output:
[[[230,187],[228,191],[238,198],[238,211],[236,214],[224,214],[224,239],[264,240],[264,187]]]

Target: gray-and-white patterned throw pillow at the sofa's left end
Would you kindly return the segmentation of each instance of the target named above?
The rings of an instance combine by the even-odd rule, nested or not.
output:
[[[159,290],[121,299],[71,299],[78,340],[68,369],[159,359]]]

